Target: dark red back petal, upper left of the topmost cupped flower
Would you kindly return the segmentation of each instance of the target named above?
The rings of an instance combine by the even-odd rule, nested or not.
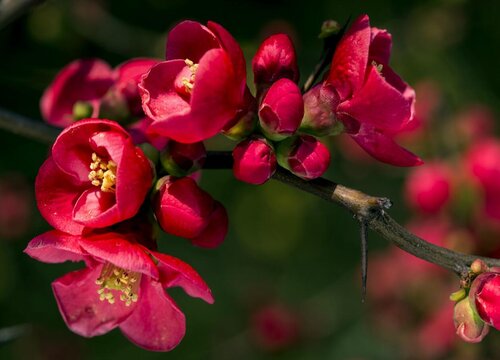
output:
[[[196,21],[186,20],[168,33],[166,59],[189,59],[198,63],[210,49],[220,48],[214,33]]]

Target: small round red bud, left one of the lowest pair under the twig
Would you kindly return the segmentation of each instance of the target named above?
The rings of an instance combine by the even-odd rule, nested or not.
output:
[[[233,174],[240,181],[260,185],[276,171],[276,155],[265,139],[247,139],[233,150]]]

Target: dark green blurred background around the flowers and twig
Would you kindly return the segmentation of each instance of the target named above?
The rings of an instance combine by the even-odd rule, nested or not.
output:
[[[47,1],[0,30],[0,106],[39,119],[44,88],[68,62],[99,57],[115,66],[131,57],[161,58],[166,32],[186,18],[221,23],[240,42],[247,61],[266,29],[288,29],[305,79],[321,50],[317,34],[322,21],[344,22],[361,13],[370,15],[372,25],[393,34],[392,65],[404,79],[410,84],[432,79],[441,86],[445,112],[476,102],[498,111],[500,27],[494,0]],[[33,183],[48,145],[4,131],[0,144],[0,173],[20,172]],[[227,146],[220,140],[210,144]],[[401,198],[405,173],[348,162],[332,146],[326,176],[392,198],[391,213],[406,221]],[[193,248],[178,238],[161,239],[160,248],[193,265],[216,298],[210,306],[173,291],[188,328],[178,348],[166,354],[148,353],[118,330],[93,339],[67,330],[50,282],[79,264],[42,264],[22,254],[31,237],[48,229],[34,209],[25,236],[0,242],[0,328],[27,325],[25,335],[0,344],[0,358],[411,357],[397,343],[382,340],[370,322],[370,311],[376,311],[370,299],[361,303],[358,229],[348,213],[280,183],[261,187],[239,183],[226,170],[205,171],[201,185],[226,206],[230,230],[215,250]],[[371,240],[371,249],[387,246],[375,235]],[[301,340],[279,353],[255,346],[249,330],[252,312],[273,301],[295,309],[301,319]],[[494,331],[490,334],[488,352],[494,351],[492,344],[499,339]]]

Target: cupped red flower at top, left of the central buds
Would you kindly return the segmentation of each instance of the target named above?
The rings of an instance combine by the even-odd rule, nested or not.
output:
[[[182,143],[202,141],[231,127],[248,108],[243,53],[219,24],[178,24],[168,35],[166,60],[139,85],[153,132]]]

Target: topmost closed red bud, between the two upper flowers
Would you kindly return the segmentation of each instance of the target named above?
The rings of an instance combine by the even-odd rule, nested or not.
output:
[[[257,86],[282,78],[298,82],[297,56],[288,35],[276,34],[264,40],[252,60],[252,69]]]

